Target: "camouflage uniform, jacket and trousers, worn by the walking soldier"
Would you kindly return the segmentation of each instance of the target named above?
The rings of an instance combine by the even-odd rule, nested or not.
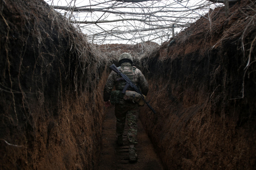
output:
[[[130,63],[122,63],[121,67],[118,67],[121,73],[127,75],[127,77],[134,83],[137,87],[141,89],[142,94],[145,96],[148,93],[148,82],[144,75],[136,67],[132,67]],[[104,87],[104,101],[108,101],[110,98],[110,93],[115,86],[116,90],[122,91],[126,84],[125,80],[117,81],[121,78],[117,73],[112,71],[109,74],[108,80]],[[127,90],[133,90],[129,87]],[[139,112],[139,106],[137,103],[132,103],[120,99],[121,104],[115,104],[115,116],[116,116],[116,135],[122,135],[124,132],[125,119],[127,116],[128,122],[128,141],[137,144],[137,118]]]

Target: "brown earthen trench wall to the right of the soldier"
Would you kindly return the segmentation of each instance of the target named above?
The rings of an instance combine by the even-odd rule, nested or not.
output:
[[[142,59],[157,114],[141,121],[167,169],[255,169],[255,9],[214,9]]]

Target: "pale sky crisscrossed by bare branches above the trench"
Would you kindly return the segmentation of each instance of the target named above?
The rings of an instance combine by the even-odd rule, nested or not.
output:
[[[59,0],[47,3],[93,43],[161,43],[202,16],[209,20],[205,14],[222,6],[220,0],[90,0],[79,6],[74,0],[65,1],[66,5]]]

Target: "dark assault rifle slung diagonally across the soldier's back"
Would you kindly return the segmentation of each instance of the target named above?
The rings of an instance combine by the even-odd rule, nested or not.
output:
[[[118,68],[115,66],[115,64],[112,64],[110,67],[109,67],[111,70],[115,71],[117,74],[119,74],[122,78],[118,79],[117,81],[120,81],[120,80],[125,80],[126,81],[126,84],[125,84],[125,87],[124,89],[122,90],[122,93],[125,94],[125,91],[129,88],[129,87],[132,87],[132,89],[134,89],[134,91],[136,91],[137,93],[139,93],[141,95],[141,99],[145,101],[145,103],[148,105],[148,107],[153,111],[153,113],[155,113],[155,110],[150,106],[149,102],[147,102],[144,98],[144,96],[142,95],[140,89],[132,83],[132,81],[123,73],[121,73],[121,71],[118,70]],[[156,114],[156,113],[155,113]]]

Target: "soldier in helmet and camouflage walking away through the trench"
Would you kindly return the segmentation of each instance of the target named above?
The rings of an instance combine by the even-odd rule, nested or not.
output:
[[[121,71],[121,73],[125,74],[131,81],[134,83],[138,88],[141,89],[142,94],[145,96],[148,93],[148,82],[145,79],[144,75],[141,73],[139,69],[132,66],[132,56],[129,53],[122,53],[119,56],[118,60],[120,67],[118,69]],[[121,78],[117,73],[112,71],[109,76],[108,80],[106,82],[106,85],[104,87],[104,101],[105,106],[110,106],[110,96],[111,91],[113,87],[115,86],[116,90],[122,91],[125,87],[126,81],[120,80],[117,81],[117,79]],[[129,87],[127,90],[133,91],[131,87]],[[119,146],[123,145],[123,132],[124,132],[124,126],[125,126],[125,119],[127,116],[127,124],[128,124],[128,142],[129,142],[129,159],[130,161],[136,161],[137,160],[137,154],[135,153],[135,144],[138,144],[137,142],[137,118],[139,113],[139,105],[138,103],[134,103],[131,101],[126,101],[122,98],[118,98],[118,102],[115,103],[115,117],[116,117],[116,139],[117,144]]]

